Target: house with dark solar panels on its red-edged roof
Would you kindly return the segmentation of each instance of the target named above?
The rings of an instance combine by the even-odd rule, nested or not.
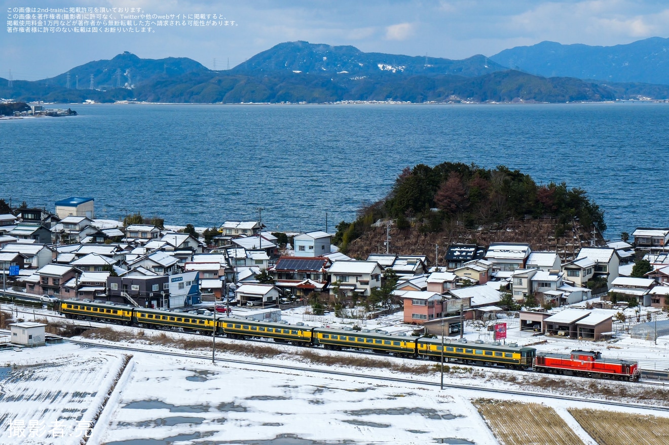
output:
[[[330,283],[328,269],[332,261],[325,257],[280,257],[268,269],[275,285],[292,295],[325,291]]]

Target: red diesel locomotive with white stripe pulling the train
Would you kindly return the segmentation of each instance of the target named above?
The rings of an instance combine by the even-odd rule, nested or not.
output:
[[[537,352],[535,371],[590,378],[639,380],[641,371],[636,361],[603,359],[600,352],[571,351],[571,354]]]

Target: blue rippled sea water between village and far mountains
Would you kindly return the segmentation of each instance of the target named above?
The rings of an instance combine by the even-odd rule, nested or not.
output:
[[[74,118],[0,121],[0,198],[168,224],[256,219],[325,229],[383,198],[405,166],[504,164],[566,181],[610,239],[669,220],[669,105],[76,105]]]

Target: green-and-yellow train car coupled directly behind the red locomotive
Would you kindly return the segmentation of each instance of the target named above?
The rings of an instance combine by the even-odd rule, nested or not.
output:
[[[537,349],[488,345],[486,343],[452,343],[444,345],[444,360],[459,360],[476,365],[502,365],[517,369],[532,366]],[[421,338],[417,342],[417,354],[421,357],[440,360],[441,339]]]

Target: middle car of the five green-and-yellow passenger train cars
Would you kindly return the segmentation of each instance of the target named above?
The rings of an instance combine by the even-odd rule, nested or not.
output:
[[[221,318],[218,320],[223,333],[231,338],[261,337],[271,338],[278,343],[310,345],[313,327],[289,325],[272,321],[242,320]]]

